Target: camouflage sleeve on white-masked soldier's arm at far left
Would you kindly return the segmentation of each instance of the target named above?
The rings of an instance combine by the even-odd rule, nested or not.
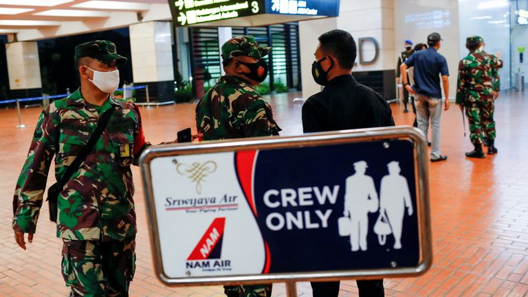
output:
[[[50,107],[54,107],[54,104],[41,113],[36,124],[28,158],[14,191],[14,201],[17,203],[12,225],[13,230],[17,232],[34,233],[36,221],[39,219],[47,173],[56,151],[58,137]]]

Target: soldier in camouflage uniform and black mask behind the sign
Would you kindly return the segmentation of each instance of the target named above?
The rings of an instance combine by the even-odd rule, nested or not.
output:
[[[270,104],[254,89],[267,76],[262,59],[270,52],[253,36],[236,36],[222,45],[221,76],[196,107],[197,131],[203,140],[278,135]],[[229,297],[271,296],[272,285],[225,286]]]

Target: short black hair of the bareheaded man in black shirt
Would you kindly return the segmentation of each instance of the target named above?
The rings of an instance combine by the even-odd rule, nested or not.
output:
[[[349,32],[339,29],[331,30],[319,36],[319,42],[323,51],[336,56],[342,68],[354,67],[358,50]]]

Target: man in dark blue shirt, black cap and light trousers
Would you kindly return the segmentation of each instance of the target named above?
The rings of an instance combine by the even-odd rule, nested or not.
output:
[[[401,64],[401,79],[404,87],[410,94],[417,94],[416,111],[418,128],[427,135],[429,123],[432,132],[431,162],[448,159],[440,154],[440,126],[442,115],[442,89],[440,78],[442,78],[443,92],[445,94],[445,105],[443,110],[449,109],[449,69],[445,58],[438,53],[441,46],[440,34],[434,32],[427,37],[428,49],[419,51],[410,56],[405,63]],[[407,69],[415,67],[415,84],[408,83]]]

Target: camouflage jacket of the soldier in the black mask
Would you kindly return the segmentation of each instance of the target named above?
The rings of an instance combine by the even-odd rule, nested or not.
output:
[[[278,135],[270,104],[241,78],[221,76],[198,102],[196,124],[203,140]]]

